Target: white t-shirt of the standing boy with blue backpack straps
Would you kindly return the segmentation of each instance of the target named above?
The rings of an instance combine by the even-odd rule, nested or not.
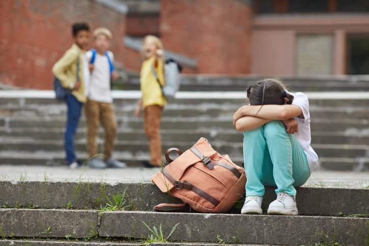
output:
[[[114,55],[108,51],[110,61],[114,62]],[[92,51],[86,52],[88,62],[92,58]],[[88,89],[88,98],[98,102],[113,102],[112,92],[110,88],[110,67],[109,61],[105,54],[101,55],[96,52],[94,61],[94,70],[90,76],[90,83]]]

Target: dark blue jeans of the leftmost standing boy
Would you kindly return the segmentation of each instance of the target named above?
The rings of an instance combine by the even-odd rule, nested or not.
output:
[[[81,117],[83,103],[78,101],[72,94],[67,96],[67,124],[64,133],[64,148],[68,165],[77,160],[74,152],[74,135]]]

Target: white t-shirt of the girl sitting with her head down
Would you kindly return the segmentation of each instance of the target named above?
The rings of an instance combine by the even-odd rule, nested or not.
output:
[[[318,155],[311,148],[311,134],[310,134],[310,113],[309,100],[304,93],[297,92],[294,95],[293,105],[301,108],[304,119],[295,117],[297,121],[298,132],[295,133],[296,139],[304,150],[307,161],[309,162],[310,172],[318,168]]]

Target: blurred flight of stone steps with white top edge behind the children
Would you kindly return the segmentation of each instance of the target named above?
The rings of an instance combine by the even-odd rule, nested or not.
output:
[[[0,163],[11,165],[63,165],[66,107],[51,91],[0,92]],[[310,92],[312,146],[320,166],[331,170],[369,169],[369,93]],[[148,159],[141,118],[133,117],[138,91],[116,91],[118,122],[114,155],[129,165]],[[179,92],[163,115],[163,149],[188,149],[200,136],[220,153],[241,164],[243,135],[231,121],[245,104],[242,92]],[[101,150],[103,140],[99,133]],[[76,136],[78,156],[86,158],[84,117]]]

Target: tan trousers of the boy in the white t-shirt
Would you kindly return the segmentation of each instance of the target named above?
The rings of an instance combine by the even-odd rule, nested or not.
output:
[[[105,159],[111,158],[117,130],[113,104],[88,99],[85,104],[85,114],[87,123],[88,154],[90,157],[98,154],[96,135],[101,122],[105,134],[103,155]]]

